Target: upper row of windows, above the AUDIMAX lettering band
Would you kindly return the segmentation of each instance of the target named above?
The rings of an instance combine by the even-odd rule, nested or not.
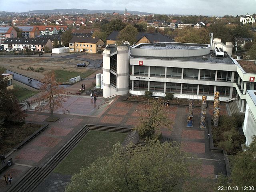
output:
[[[231,82],[231,71],[218,71],[217,81]],[[148,76],[148,66],[134,66],[134,75]],[[198,69],[184,68],[183,78],[184,79],[198,79]],[[200,80],[215,81],[216,71],[215,70],[200,70]],[[150,67],[150,77],[165,77],[165,67]],[[166,68],[167,78],[181,78],[182,68]],[[238,74],[235,73],[234,81],[238,81]]]

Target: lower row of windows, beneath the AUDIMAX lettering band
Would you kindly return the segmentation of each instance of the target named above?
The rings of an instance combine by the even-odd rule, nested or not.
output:
[[[178,93],[180,94],[180,90],[182,89],[182,94],[194,94],[197,92],[199,95],[213,95],[214,94],[214,86],[212,85],[198,85],[197,84],[181,84],[180,83],[166,83],[165,92]],[[136,81],[134,80],[133,90],[148,90],[148,81]],[[149,90],[152,92],[164,92],[164,82],[149,82]],[[220,96],[229,97],[230,87],[225,86],[216,86],[216,91],[220,92]]]

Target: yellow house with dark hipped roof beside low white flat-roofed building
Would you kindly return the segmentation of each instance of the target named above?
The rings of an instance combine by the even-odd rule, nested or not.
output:
[[[102,51],[104,42],[100,38],[73,37],[69,42],[70,52],[98,53]]]

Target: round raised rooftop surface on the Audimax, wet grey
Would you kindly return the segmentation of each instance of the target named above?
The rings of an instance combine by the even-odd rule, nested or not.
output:
[[[185,49],[200,49],[206,48],[208,44],[192,44],[192,43],[142,43],[133,48],[143,48],[143,49],[166,49],[166,50],[185,50]]]

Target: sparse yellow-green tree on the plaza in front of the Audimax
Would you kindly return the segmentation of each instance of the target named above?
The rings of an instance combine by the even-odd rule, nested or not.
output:
[[[145,113],[139,114],[140,124],[134,127],[134,130],[140,134],[140,138],[158,137],[155,134],[159,132],[160,126],[171,129],[172,121],[167,117],[168,112],[162,103],[162,100],[150,100],[145,104]]]

